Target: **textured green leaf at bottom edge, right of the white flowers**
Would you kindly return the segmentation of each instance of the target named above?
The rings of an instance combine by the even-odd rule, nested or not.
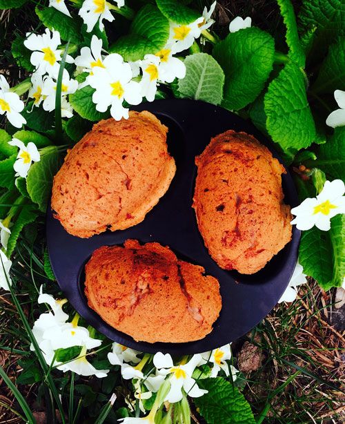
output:
[[[198,385],[208,393],[193,401],[208,424],[255,424],[243,394],[224,378],[199,380]]]

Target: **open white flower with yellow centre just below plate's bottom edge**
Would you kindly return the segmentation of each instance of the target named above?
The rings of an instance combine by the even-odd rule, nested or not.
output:
[[[169,354],[161,354],[158,352],[153,358],[153,363],[157,367],[159,374],[170,376],[170,390],[166,396],[165,401],[175,403],[181,401],[183,398],[182,389],[188,396],[197,398],[203,396],[208,391],[199,389],[197,382],[192,378],[195,367],[200,363],[201,355],[194,355],[190,361],[184,365],[174,366],[172,358]]]

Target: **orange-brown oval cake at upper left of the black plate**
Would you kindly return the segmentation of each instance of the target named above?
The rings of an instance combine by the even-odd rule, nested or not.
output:
[[[68,233],[87,238],[144,220],[175,175],[167,131],[144,111],[103,120],[83,136],[52,186],[52,210]]]

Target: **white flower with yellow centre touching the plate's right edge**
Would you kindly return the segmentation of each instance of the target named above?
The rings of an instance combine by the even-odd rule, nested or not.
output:
[[[326,181],[322,192],[317,197],[308,197],[299,206],[291,209],[297,229],[305,231],[316,227],[322,231],[331,228],[331,218],[338,213],[345,213],[345,184],[342,180]]]

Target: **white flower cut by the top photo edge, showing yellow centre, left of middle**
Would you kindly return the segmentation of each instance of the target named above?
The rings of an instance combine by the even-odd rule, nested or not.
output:
[[[117,7],[121,8],[124,6],[124,0],[117,0]],[[78,15],[81,16],[84,23],[88,27],[87,32],[91,32],[93,27],[99,20],[99,29],[103,30],[103,19],[109,22],[114,21],[114,17],[110,13],[110,3],[106,0],[85,0],[81,6]]]

